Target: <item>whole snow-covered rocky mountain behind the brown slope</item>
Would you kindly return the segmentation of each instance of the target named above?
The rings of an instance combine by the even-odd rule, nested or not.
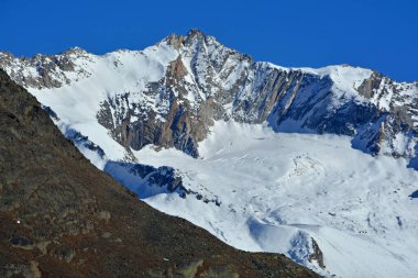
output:
[[[198,30],[0,67],[162,211],[327,276],[418,275],[418,82],[254,62]]]

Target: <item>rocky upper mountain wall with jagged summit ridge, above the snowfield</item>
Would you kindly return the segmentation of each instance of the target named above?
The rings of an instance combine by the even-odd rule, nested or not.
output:
[[[284,132],[349,135],[353,147],[373,155],[416,156],[418,84],[351,66],[293,69],[254,62],[197,30],[144,52],[102,57],[80,48],[33,58],[3,53],[0,67],[37,90],[102,82],[95,118],[136,151],[154,144],[198,157],[213,121],[233,119]]]

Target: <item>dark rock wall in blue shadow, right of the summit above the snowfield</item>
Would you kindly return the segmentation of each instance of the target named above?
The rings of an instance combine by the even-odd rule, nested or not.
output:
[[[373,105],[359,104],[350,99],[333,107],[333,82],[329,77],[299,76],[297,84],[278,94],[277,104],[270,115],[270,123],[280,131],[288,131],[280,123],[292,120],[298,129],[352,136],[359,126],[377,113]]]

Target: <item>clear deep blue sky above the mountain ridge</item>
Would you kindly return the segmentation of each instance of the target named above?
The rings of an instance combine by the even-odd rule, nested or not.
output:
[[[418,80],[418,1],[0,0],[0,49],[142,49],[197,27],[282,66],[351,64]]]

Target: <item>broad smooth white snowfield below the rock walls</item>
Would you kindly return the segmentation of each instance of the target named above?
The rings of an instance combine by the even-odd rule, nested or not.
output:
[[[418,173],[405,160],[363,154],[345,136],[234,122],[217,122],[199,153],[194,159],[150,146],[135,155],[176,168],[219,207],[166,193],[145,201],[238,248],[284,253],[326,276],[417,277],[418,199],[409,196]],[[309,262],[311,238],[324,269]]]

